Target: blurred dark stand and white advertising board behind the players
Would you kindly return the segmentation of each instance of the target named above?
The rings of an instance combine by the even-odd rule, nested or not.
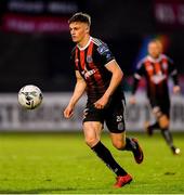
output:
[[[116,56],[126,75],[128,95],[136,63],[152,38],[160,39],[163,52],[175,62],[184,90],[184,0],[1,0],[1,130],[80,128],[80,106],[70,122],[61,119],[61,106],[65,107],[75,86],[67,21],[78,11],[92,16],[91,35],[105,41]],[[44,94],[43,105],[31,113],[16,105],[17,91],[28,83]],[[128,105],[130,129],[134,130],[152,117],[144,95],[139,100],[135,107]],[[182,130],[182,95],[173,102],[173,129]]]

